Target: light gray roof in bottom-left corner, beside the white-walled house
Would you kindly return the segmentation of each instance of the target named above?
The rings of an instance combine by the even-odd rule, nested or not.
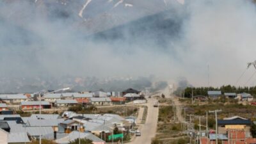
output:
[[[19,133],[9,133],[8,134],[8,143],[29,143],[28,134],[26,132]]]

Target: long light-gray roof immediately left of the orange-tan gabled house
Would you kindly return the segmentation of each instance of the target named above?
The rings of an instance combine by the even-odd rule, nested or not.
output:
[[[58,124],[60,124],[61,122],[63,122],[64,119],[56,119],[56,120],[28,120],[27,125],[30,127],[38,127],[41,126],[42,127],[56,127],[58,126]]]

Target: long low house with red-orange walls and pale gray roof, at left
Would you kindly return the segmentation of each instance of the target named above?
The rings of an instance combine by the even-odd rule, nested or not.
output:
[[[40,105],[42,109],[51,109],[51,104],[47,101],[28,101],[28,102],[21,102],[21,109],[39,109]]]

